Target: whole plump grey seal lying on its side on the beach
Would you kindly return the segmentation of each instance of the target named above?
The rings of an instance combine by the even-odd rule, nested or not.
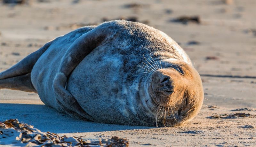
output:
[[[77,119],[180,126],[201,109],[200,75],[163,32],[124,20],[78,28],[0,73],[0,88],[38,93]]]

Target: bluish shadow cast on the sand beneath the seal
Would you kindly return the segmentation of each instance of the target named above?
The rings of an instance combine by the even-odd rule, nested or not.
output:
[[[41,104],[0,104],[0,121],[18,119],[33,125],[42,132],[73,133],[102,132],[128,129],[148,129],[153,127],[124,126],[76,120]]]

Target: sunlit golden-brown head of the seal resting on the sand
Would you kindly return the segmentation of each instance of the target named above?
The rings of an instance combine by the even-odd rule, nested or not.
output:
[[[177,59],[162,61],[165,68],[151,74],[148,94],[158,126],[180,126],[192,120],[203,104],[202,80],[196,69]]]

